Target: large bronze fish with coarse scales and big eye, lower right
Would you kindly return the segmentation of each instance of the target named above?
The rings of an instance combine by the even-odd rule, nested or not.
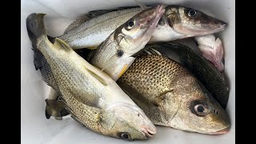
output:
[[[154,125],[226,134],[230,118],[194,74],[165,55],[140,54],[117,81]]]

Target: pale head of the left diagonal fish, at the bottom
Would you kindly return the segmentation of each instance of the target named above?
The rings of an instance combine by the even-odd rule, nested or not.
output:
[[[125,140],[148,139],[156,134],[154,124],[136,105],[118,103],[101,116],[101,131]]]

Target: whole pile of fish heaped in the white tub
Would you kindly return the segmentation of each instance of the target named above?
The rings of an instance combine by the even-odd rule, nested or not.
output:
[[[229,86],[222,41],[226,22],[186,6],[121,7],[82,15],[52,38],[45,14],[26,18],[34,66],[51,86],[46,118],[99,134],[148,139],[156,127],[226,134]],[[198,50],[170,42],[194,38]]]

